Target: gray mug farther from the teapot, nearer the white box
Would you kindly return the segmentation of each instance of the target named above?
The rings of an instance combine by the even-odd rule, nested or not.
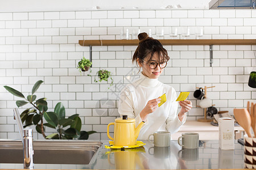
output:
[[[182,138],[182,143],[180,139]],[[198,133],[183,133],[181,137],[177,139],[177,142],[183,148],[198,148],[199,146],[199,134]]]

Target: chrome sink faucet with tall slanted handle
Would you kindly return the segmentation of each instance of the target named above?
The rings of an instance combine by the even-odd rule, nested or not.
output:
[[[22,143],[23,143],[24,169],[34,169],[33,130],[31,128],[23,129],[18,108],[15,108],[13,111],[14,111],[14,119],[18,124],[19,134],[20,134],[20,137],[22,138]]]

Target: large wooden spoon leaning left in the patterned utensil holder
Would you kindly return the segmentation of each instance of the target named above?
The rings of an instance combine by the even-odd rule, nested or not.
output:
[[[248,137],[251,138],[251,117],[247,109],[234,109],[234,117],[236,118],[238,124],[245,129]]]

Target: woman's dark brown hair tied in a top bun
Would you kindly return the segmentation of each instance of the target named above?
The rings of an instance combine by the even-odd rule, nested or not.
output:
[[[139,45],[133,54],[133,62],[137,63],[137,58],[142,62],[142,59],[149,56],[148,61],[152,60],[155,53],[158,54],[158,62],[168,61],[170,57],[168,56],[167,50],[163,48],[160,41],[148,37],[146,32],[139,33],[138,35]]]

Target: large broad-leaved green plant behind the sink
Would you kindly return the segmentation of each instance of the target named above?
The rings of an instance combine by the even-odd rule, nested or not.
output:
[[[5,89],[14,96],[22,97],[24,99],[16,101],[18,107],[22,107],[28,103],[32,105],[31,108],[27,108],[20,114],[22,123],[25,122],[24,128],[26,126],[35,125],[36,131],[42,134],[46,139],[88,139],[90,134],[96,133],[96,131],[81,131],[82,123],[79,114],[73,114],[72,116],[65,118],[65,108],[62,103],[56,104],[54,112],[48,112],[46,98],[36,100],[36,95],[34,95],[42,83],[42,80],[36,82],[32,88],[31,95],[28,95],[27,98],[14,88],[4,86]],[[43,118],[47,123],[43,122]],[[46,126],[48,128],[56,129],[57,133],[46,135]]]

